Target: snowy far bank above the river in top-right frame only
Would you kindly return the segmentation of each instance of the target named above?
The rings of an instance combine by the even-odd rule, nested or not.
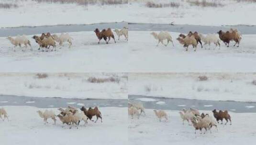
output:
[[[148,8],[146,2],[156,4],[179,4],[178,8]],[[134,23],[175,23],[192,25],[256,25],[252,19],[256,13],[256,3],[246,0],[206,0],[223,4],[223,7],[201,7],[190,5],[188,0],[131,0],[129,1],[128,22]],[[202,1],[202,0],[190,0]],[[249,0],[248,0],[249,1]]]

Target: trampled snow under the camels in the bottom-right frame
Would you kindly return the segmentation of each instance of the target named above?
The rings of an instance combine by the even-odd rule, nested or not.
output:
[[[212,127],[212,133],[200,135],[200,131],[197,131],[195,135],[193,126],[189,126],[187,122],[182,124],[178,111],[166,111],[168,122],[159,122],[152,109],[146,109],[145,112],[146,116],[142,115],[140,119],[130,117],[130,145],[241,145],[245,141],[255,142],[255,113],[229,111],[232,125],[218,124],[218,131]],[[212,115],[211,111],[200,112]]]

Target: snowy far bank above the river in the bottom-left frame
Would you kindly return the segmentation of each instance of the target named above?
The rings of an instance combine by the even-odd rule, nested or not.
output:
[[[44,73],[43,73],[44,74]],[[0,94],[81,99],[127,99],[126,73],[0,73]],[[116,82],[90,83],[88,78],[114,78]],[[118,82],[118,80],[120,80]]]

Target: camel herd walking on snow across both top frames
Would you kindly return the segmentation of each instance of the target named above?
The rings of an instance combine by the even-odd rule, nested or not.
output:
[[[116,43],[115,35],[111,30],[111,28],[103,29],[101,31],[98,28],[96,28],[94,32],[99,40],[98,43],[100,43],[100,41],[103,39],[108,44],[111,38]],[[128,41],[127,27],[123,27],[121,30],[115,29],[114,32],[118,36],[118,40],[123,35],[125,37],[125,40]],[[180,44],[183,45],[186,51],[188,51],[189,45],[195,48],[194,51],[196,51],[197,45],[199,43],[201,45],[201,48],[203,47],[203,45],[206,45],[206,44],[208,44],[210,47],[211,43],[214,43],[215,47],[217,46],[221,47],[220,41],[223,41],[227,47],[229,47],[230,41],[235,41],[234,46],[238,44],[237,47],[239,47],[240,41],[242,39],[242,35],[237,29],[230,29],[229,31],[226,31],[226,32],[220,30],[217,33],[219,36],[215,34],[203,35],[203,34],[199,34],[197,31],[195,32],[189,31],[187,35],[182,33],[179,34],[177,40]],[[172,42],[172,45],[174,46],[172,37],[167,31],[160,31],[158,34],[156,32],[151,32],[150,34],[153,35],[156,40],[158,40],[157,46],[160,42],[165,46],[167,46],[169,42]],[[44,51],[44,48],[46,49],[46,51],[48,51],[51,46],[52,46],[51,51],[53,50],[56,51],[56,42],[59,43],[60,46],[63,46],[64,42],[68,42],[69,47],[71,47],[72,40],[73,40],[73,38],[70,37],[68,33],[62,33],[58,36],[56,34],[52,35],[50,32],[47,32],[46,34],[42,33],[41,36],[34,35],[32,38],[35,40],[36,43],[39,44],[38,50],[43,48],[43,51]],[[24,44],[25,47],[27,47],[27,45],[31,47],[30,41],[25,37],[25,35],[22,35],[22,36],[18,35],[16,38],[12,38],[9,36],[7,39],[10,40],[11,43],[14,45],[14,51],[16,46],[21,47],[22,44]],[[165,40],[167,40],[167,44],[164,44],[163,41]],[[202,42],[204,42],[204,44],[202,44]]]

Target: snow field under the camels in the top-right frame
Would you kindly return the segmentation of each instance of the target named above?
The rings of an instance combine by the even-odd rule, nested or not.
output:
[[[215,50],[209,46],[197,47],[194,52],[189,46],[188,52],[176,40],[180,33],[169,32],[174,41],[166,46],[159,44],[150,34],[151,31],[129,31],[129,72],[255,72],[256,68],[256,35],[243,35],[240,47],[224,46]],[[167,43],[166,41],[164,41]],[[207,48],[207,50],[205,50]]]

